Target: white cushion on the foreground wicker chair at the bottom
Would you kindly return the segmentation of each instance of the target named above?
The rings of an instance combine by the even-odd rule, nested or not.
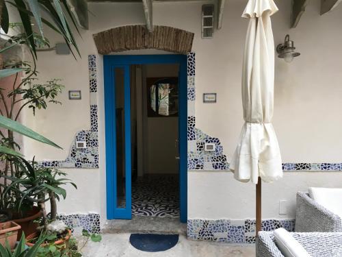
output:
[[[302,247],[298,241],[291,236],[287,230],[278,228],[274,230],[274,238],[276,245],[283,256],[285,257],[310,257],[308,252]]]

